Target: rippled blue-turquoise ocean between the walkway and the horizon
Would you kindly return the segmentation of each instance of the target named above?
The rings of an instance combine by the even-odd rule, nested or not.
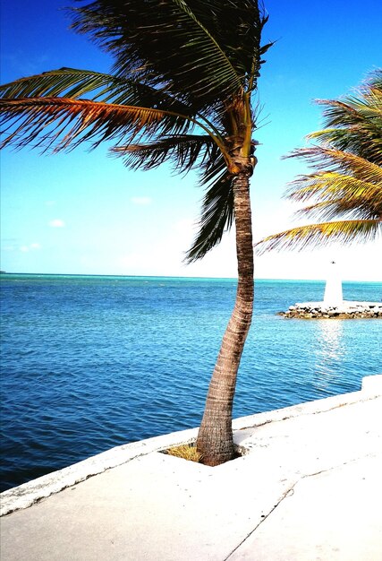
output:
[[[381,282],[344,282],[380,301]],[[382,321],[288,320],[323,281],[256,280],[233,417],[357,391]],[[1,490],[113,446],[199,425],[236,281],[1,275]]]

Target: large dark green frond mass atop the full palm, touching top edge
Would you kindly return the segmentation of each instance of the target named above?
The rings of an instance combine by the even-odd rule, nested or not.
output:
[[[115,57],[119,75],[199,108],[242,89],[265,24],[255,0],[97,0],[73,8],[72,21]]]

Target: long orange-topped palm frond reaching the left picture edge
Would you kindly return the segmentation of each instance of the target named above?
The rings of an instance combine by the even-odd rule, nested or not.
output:
[[[55,151],[75,148],[91,141],[131,142],[137,134],[183,134],[190,126],[183,117],[158,109],[122,106],[85,99],[0,99],[3,125],[8,125],[2,147],[29,144]]]

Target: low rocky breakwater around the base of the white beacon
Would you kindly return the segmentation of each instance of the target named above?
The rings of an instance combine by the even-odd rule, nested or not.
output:
[[[287,318],[297,319],[382,319],[382,302],[346,302],[327,306],[323,302],[302,302],[279,312]]]

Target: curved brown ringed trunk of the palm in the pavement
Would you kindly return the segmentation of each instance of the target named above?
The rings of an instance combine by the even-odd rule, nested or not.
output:
[[[233,314],[225,330],[209,384],[197,448],[209,466],[233,459],[232,410],[237,371],[253,310],[253,246],[250,215],[250,171],[233,179],[238,286]]]

